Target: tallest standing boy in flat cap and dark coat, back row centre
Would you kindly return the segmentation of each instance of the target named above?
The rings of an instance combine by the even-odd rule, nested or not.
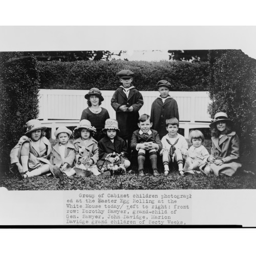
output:
[[[115,91],[111,105],[116,111],[120,137],[127,140],[128,152],[130,153],[130,141],[133,132],[138,127],[137,122],[139,110],[143,105],[143,97],[132,84],[134,73],[131,70],[121,70],[117,75],[120,77],[122,86]]]

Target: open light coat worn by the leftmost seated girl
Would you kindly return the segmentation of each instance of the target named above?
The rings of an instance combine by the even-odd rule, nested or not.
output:
[[[50,164],[49,158],[50,154],[52,152],[52,146],[50,141],[46,137],[41,137],[40,141],[45,144],[46,146],[46,151],[45,152],[37,152],[34,150],[31,144],[31,139],[27,137],[26,135],[22,136],[18,143],[12,148],[11,153],[10,153],[10,160],[11,160],[11,165],[10,165],[10,172],[13,174],[17,173],[17,166],[15,163],[20,163],[20,151],[22,150],[22,145],[25,142],[29,143],[29,152],[33,154],[37,160],[39,160],[42,163],[45,164]]]

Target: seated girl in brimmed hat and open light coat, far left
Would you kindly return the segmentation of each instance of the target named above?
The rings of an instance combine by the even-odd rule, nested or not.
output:
[[[17,167],[21,178],[38,176],[49,172],[49,162],[52,151],[51,143],[44,137],[44,130],[41,122],[36,119],[27,122],[27,132],[22,136],[18,144],[11,150],[11,168],[15,173]],[[21,164],[20,164],[21,162]]]

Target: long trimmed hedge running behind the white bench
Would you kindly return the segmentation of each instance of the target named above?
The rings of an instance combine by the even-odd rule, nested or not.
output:
[[[206,91],[208,62],[185,61],[38,61],[41,89],[116,90],[120,81],[116,73],[130,69],[135,73],[133,84],[140,91],[155,91],[159,80],[172,84],[172,91]]]

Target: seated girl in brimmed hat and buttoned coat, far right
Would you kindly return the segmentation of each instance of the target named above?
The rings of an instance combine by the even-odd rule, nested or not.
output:
[[[239,137],[233,130],[233,122],[227,114],[219,112],[210,124],[211,129],[211,154],[209,164],[202,168],[202,173],[233,176],[242,166],[239,162]]]

